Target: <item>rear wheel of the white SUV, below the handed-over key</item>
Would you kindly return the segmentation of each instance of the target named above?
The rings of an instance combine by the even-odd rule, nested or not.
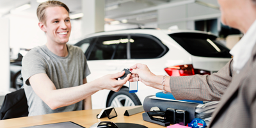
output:
[[[136,94],[129,93],[128,88],[122,88],[118,92],[113,93],[108,101],[108,107],[112,106],[114,108],[138,105],[141,105],[140,99],[138,99]]]

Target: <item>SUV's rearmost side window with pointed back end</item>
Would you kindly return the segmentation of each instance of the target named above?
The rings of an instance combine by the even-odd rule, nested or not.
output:
[[[131,36],[131,59],[157,58],[164,49],[148,36]]]

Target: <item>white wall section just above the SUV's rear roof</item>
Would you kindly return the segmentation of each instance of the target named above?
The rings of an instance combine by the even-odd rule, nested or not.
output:
[[[212,1],[204,1],[211,3]],[[212,4],[217,4],[216,2]],[[157,10],[157,24],[161,29],[178,26],[179,29],[195,29],[195,20],[218,19],[220,10],[192,3]]]

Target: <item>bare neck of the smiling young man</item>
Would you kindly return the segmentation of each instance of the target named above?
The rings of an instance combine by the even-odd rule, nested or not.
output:
[[[47,42],[45,45],[52,53],[56,54],[57,56],[68,56],[67,44],[56,45]]]

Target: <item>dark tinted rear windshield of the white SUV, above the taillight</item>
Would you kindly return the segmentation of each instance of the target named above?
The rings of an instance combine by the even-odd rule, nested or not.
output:
[[[169,36],[193,56],[231,58],[230,50],[216,41],[216,36],[202,33],[174,33]]]

